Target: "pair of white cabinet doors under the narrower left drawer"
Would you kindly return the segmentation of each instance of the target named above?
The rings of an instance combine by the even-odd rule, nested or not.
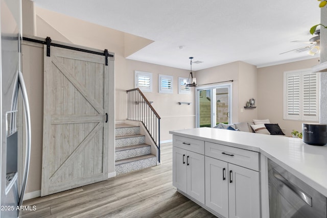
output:
[[[204,155],[174,146],[173,185],[204,204]]]

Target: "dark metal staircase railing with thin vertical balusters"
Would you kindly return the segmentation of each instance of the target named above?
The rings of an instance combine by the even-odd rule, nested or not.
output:
[[[142,122],[158,149],[160,162],[160,116],[139,88],[127,90],[127,119]],[[140,104],[144,103],[144,104]]]

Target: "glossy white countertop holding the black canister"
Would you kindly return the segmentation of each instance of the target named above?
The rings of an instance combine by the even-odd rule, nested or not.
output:
[[[311,146],[299,138],[207,127],[169,133],[260,152],[327,197],[327,146]]]

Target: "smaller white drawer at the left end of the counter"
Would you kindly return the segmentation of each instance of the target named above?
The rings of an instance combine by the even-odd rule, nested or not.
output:
[[[173,146],[198,154],[204,154],[204,141],[173,135]]]

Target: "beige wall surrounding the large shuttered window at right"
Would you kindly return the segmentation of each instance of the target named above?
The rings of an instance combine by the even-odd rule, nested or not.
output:
[[[302,130],[301,121],[283,119],[284,71],[311,68],[318,58],[258,68],[258,118],[269,118],[291,135],[293,129]]]

